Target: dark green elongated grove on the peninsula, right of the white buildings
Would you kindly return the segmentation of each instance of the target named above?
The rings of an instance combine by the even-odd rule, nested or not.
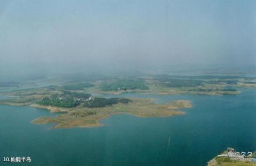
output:
[[[112,106],[113,104],[117,103],[129,103],[131,102],[130,99],[119,99],[119,98],[111,98],[111,99],[105,99],[105,98],[94,98],[88,101],[85,101],[84,107],[94,108],[94,107],[105,107],[105,106]]]

